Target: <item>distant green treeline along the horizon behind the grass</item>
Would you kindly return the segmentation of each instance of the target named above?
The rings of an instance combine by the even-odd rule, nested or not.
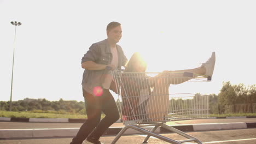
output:
[[[196,94],[196,97],[200,96]],[[231,85],[223,82],[220,93],[210,94],[210,106],[213,105],[235,105],[235,104],[253,104],[256,103],[256,85],[245,86]],[[0,101],[0,110],[8,111],[10,101]],[[49,101],[46,99],[29,99],[12,101],[12,111],[48,111],[48,112],[68,112],[68,113],[85,113],[84,101],[62,100]],[[119,103],[118,103],[119,105]]]

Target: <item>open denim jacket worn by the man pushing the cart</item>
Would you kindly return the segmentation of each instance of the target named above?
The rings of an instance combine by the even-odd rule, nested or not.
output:
[[[127,58],[124,55],[123,49],[121,46],[117,45],[118,51],[118,67],[117,69],[121,69],[121,66],[124,66],[127,62]],[[110,46],[108,40],[102,40],[98,43],[92,44],[89,50],[85,53],[82,58],[82,63],[86,61],[93,61],[98,64],[110,64],[112,61],[112,53],[110,50]],[[108,70],[84,70],[82,86],[84,90],[92,95],[94,95],[93,91],[95,87],[102,86],[102,82],[104,80],[104,75],[108,74]],[[112,82],[113,84],[113,82]],[[115,86],[110,86],[112,91],[116,92]]]

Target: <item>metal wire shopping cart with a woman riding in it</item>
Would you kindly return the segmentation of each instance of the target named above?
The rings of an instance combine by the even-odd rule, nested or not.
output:
[[[209,77],[193,73],[125,73],[113,72],[118,89],[118,106],[125,127],[112,143],[115,143],[127,129],[134,129],[147,137],[142,143],[148,143],[150,136],[169,143],[194,141],[202,143],[195,137],[167,125],[170,121],[207,118],[209,115],[208,95],[171,94],[169,86],[185,81],[210,81]],[[211,77],[210,77],[211,78]],[[145,127],[153,127],[150,131]],[[164,128],[187,139],[172,140],[154,133]]]

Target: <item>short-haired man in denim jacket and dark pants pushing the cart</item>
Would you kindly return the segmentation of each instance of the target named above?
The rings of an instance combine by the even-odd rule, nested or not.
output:
[[[110,22],[107,26],[107,39],[92,44],[82,58],[83,96],[88,119],[80,127],[71,144],[101,143],[110,125],[119,119],[117,105],[109,89],[117,93],[111,70],[121,69],[127,62],[122,48],[117,45],[122,37],[121,24]],[[106,117],[101,120],[101,112]]]

